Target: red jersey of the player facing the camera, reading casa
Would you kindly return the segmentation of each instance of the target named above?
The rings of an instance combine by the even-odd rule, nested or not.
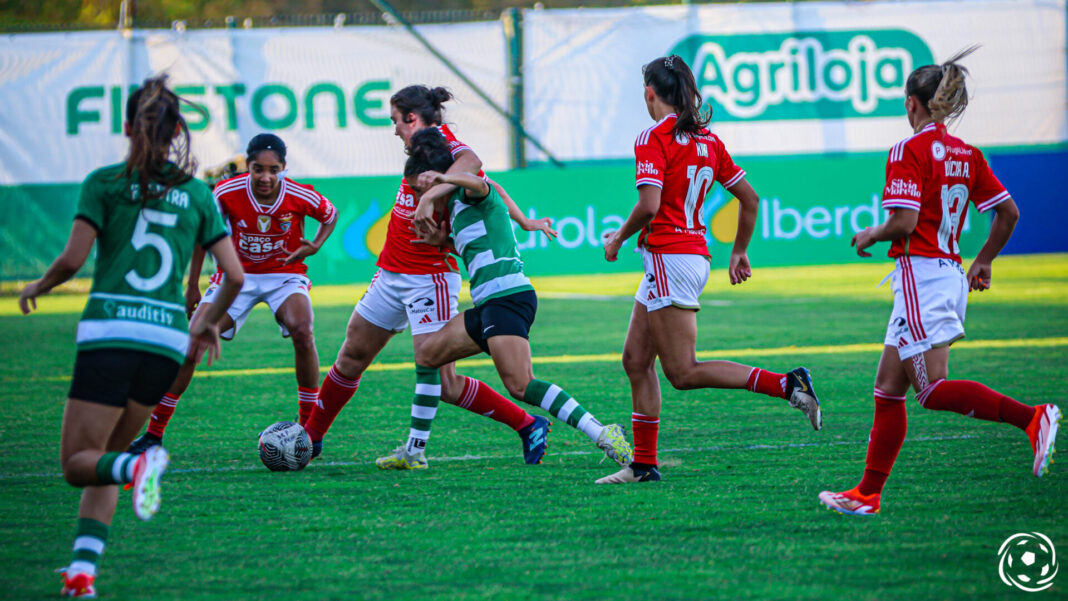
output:
[[[282,265],[300,248],[304,216],[333,223],[337,210],[311,186],[283,177],[278,200],[264,207],[252,195],[252,178],[238,175],[215,187],[215,201],[231,232],[246,273],[307,273],[303,262]]]

